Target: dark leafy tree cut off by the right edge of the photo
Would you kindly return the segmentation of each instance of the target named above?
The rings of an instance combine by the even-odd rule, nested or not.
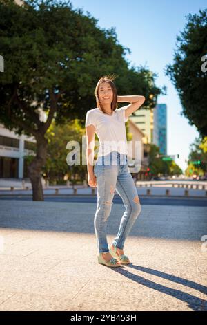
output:
[[[201,58],[207,55],[207,9],[187,16],[184,31],[177,35],[174,63],[166,66],[166,75],[175,85],[190,125],[207,136],[207,71],[201,70]]]

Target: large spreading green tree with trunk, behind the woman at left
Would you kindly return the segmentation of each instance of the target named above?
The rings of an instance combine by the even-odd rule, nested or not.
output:
[[[83,15],[81,9],[73,10],[70,1],[27,0],[17,6],[13,0],[4,0],[0,12],[0,53],[5,62],[0,122],[36,139],[36,156],[28,174],[33,200],[42,201],[46,132],[52,120],[61,125],[79,118],[83,125],[86,111],[95,106],[97,80],[116,71],[119,95],[144,95],[146,108],[155,105],[162,90],[146,68],[128,68],[124,55],[130,50],[118,44],[115,28],[101,30],[97,19]]]

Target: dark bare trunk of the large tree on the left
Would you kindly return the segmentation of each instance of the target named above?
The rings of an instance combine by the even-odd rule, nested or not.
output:
[[[41,171],[43,165],[46,163],[46,153],[48,147],[48,140],[41,138],[37,140],[37,154],[32,163],[28,166],[28,176],[32,183],[32,200],[44,201],[43,187],[41,183]]]

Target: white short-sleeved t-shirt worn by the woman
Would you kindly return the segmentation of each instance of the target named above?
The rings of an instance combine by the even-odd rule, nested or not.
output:
[[[119,151],[121,154],[128,153],[128,145],[126,140],[125,109],[128,105],[116,109],[112,115],[104,114],[101,109],[90,109],[86,113],[86,127],[93,124],[95,133],[99,138],[99,156],[105,156],[110,151]]]

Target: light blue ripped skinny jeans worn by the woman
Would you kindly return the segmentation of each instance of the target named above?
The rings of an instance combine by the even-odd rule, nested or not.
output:
[[[141,204],[137,189],[128,168],[126,154],[112,151],[106,156],[100,156],[94,167],[97,178],[97,210],[95,212],[95,235],[100,252],[109,252],[106,239],[106,223],[112,208],[112,199],[117,194],[121,196],[126,210],[121,218],[119,231],[112,244],[121,250],[124,248],[126,236],[141,212]]]

